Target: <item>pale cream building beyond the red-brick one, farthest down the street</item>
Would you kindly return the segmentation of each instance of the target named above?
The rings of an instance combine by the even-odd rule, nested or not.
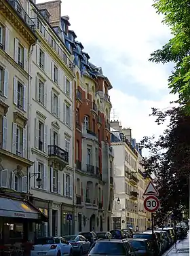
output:
[[[113,228],[132,227],[144,231],[147,228],[147,213],[143,206],[146,180],[140,164],[142,152],[132,139],[131,129],[111,121],[111,145],[114,149],[115,195],[112,222]]]

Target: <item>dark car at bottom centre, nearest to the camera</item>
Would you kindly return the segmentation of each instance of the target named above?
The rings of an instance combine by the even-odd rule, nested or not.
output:
[[[127,239],[98,239],[92,244],[88,256],[98,255],[130,255],[136,256],[135,250],[132,248]]]

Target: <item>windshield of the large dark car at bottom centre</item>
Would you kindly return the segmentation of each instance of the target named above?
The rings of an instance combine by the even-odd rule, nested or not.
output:
[[[96,242],[89,254],[126,255],[121,242]]]

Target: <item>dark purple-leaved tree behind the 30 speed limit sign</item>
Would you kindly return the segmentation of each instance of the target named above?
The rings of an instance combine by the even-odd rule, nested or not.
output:
[[[145,136],[142,147],[149,149],[149,158],[142,165],[145,174],[155,175],[155,185],[163,212],[175,208],[189,210],[189,173],[190,173],[190,116],[181,107],[166,111],[152,109],[155,122],[161,124],[169,118],[168,128],[155,141]]]

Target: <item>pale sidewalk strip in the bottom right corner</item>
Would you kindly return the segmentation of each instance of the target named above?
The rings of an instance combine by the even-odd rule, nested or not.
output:
[[[188,256],[189,255],[189,235],[186,239],[180,240],[172,246],[172,248],[164,253],[163,256]]]

